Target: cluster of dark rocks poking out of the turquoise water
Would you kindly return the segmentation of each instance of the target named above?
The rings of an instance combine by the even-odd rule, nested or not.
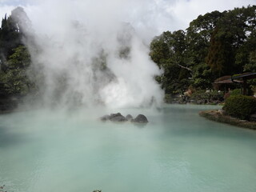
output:
[[[106,114],[103,117],[100,118],[102,122],[110,121],[110,122],[138,122],[138,123],[146,123],[148,122],[146,116],[144,114],[138,114],[136,118],[133,118],[132,115],[127,114],[126,117],[124,117],[122,114]]]

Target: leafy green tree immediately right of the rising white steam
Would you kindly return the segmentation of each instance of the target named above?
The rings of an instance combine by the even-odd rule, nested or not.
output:
[[[150,56],[163,70],[157,81],[166,94],[183,92],[190,84],[191,69],[186,65],[186,33],[183,30],[163,32],[150,44]]]

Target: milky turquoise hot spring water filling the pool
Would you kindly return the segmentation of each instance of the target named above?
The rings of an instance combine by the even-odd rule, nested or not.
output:
[[[255,192],[256,131],[198,116],[216,106],[0,115],[0,186],[39,192]],[[113,112],[149,123],[100,122]]]

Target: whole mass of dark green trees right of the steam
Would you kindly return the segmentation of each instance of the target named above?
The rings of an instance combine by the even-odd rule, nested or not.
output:
[[[211,88],[223,75],[255,72],[256,6],[199,15],[186,31],[155,37],[150,56],[164,70],[156,79],[166,94]]]

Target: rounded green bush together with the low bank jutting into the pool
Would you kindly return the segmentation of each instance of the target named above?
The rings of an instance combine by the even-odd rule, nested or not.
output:
[[[206,110],[199,115],[216,122],[256,130],[256,98],[244,95],[226,99],[222,110]]]

